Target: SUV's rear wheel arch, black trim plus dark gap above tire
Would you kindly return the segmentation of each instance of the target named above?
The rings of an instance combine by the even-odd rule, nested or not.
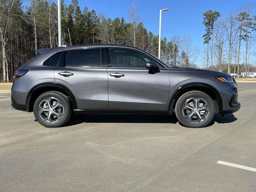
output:
[[[70,91],[70,89],[62,84],[50,82],[50,83],[38,84],[30,90],[30,92],[28,93],[27,99],[26,99],[26,110],[28,112],[32,112],[33,105],[34,105],[36,98],[40,94],[47,92],[47,91],[58,91],[58,92],[65,94],[66,96],[68,96],[70,98],[70,102],[72,103],[72,108],[77,109],[76,99],[74,97],[74,94]]]

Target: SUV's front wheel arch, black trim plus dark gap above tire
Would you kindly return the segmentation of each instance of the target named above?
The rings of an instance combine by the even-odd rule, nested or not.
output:
[[[205,83],[188,83],[180,86],[174,94],[172,94],[172,97],[170,99],[170,104],[168,106],[169,114],[173,114],[173,109],[175,108],[176,102],[182,94],[188,92],[188,91],[202,91],[206,94],[208,94],[212,100],[214,101],[215,106],[215,112],[219,112],[223,108],[222,98],[220,96],[220,93],[216,88],[209,84]]]

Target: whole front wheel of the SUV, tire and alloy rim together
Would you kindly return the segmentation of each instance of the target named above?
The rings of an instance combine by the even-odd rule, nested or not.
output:
[[[197,109],[196,107],[197,104]],[[215,113],[214,102],[204,92],[189,91],[184,93],[175,106],[175,114],[180,123],[190,128],[202,128],[208,125]]]

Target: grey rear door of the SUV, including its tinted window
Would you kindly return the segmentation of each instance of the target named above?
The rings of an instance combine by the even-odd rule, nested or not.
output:
[[[108,109],[108,76],[101,48],[68,50],[54,71],[56,83],[69,88],[78,109]]]

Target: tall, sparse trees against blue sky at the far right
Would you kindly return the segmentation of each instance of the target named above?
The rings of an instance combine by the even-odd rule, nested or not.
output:
[[[205,68],[234,73],[238,78],[241,72],[256,72],[256,16],[253,14],[253,3],[244,5],[240,11],[230,11],[224,17],[213,10],[203,14],[206,28],[203,38],[204,44],[207,44],[204,51]]]

